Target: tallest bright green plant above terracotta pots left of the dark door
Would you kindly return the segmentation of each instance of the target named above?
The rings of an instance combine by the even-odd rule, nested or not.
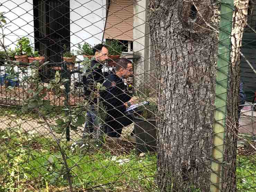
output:
[[[22,37],[18,40],[18,47],[15,49],[16,55],[33,55],[33,47],[30,46],[28,37]]]

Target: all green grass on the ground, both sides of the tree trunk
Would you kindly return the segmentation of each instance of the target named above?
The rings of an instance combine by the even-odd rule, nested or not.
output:
[[[64,178],[63,161],[60,160],[61,153],[51,138],[37,136],[32,140],[25,136],[11,138],[2,139],[0,133],[0,150],[5,152],[0,153],[0,175],[4,174],[11,165],[8,164],[10,162],[7,159],[20,156],[22,160],[18,162],[18,166],[23,183],[29,183],[36,189],[45,189],[47,184],[55,187],[68,185]],[[31,146],[34,147],[31,148]],[[73,186],[80,189],[93,186],[96,191],[100,189],[122,191],[124,188],[157,191],[154,184],[156,154],[139,157],[135,151],[131,151],[130,154],[114,156],[111,150],[103,150],[101,147],[87,150],[84,147],[80,148],[80,145],[72,150],[71,146],[66,146],[65,143],[61,146],[65,149],[68,167],[71,168]],[[23,150],[22,154],[17,152],[19,149]],[[255,191],[255,158],[255,155],[238,156],[236,171],[238,191]],[[4,164],[7,166],[4,167]],[[27,178],[23,173],[26,173]]]

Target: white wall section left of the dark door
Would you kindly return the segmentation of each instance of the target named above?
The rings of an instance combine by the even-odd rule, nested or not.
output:
[[[28,37],[34,47],[33,0],[0,0],[1,3],[0,12],[5,12],[6,26],[8,26],[4,29],[5,46],[14,49],[18,38]]]

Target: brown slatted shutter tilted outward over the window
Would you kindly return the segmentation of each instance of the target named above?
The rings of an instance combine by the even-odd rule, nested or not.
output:
[[[133,0],[111,0],[105,39],[133,40]]]

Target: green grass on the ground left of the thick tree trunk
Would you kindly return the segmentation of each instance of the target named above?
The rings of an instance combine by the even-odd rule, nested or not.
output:
[[[63,166],[63,161],[60,161],[61,153],[54,152],[56,146],[52,139],[37,138],[33,142],[41,144],[40,149],[27,148],[26,146],[32,145],[32,141],[25,142],[23,161],[19,162],[20,174],[25,172],[27,176],[24,182],[34,183],[37,188],[44,188],[46,182],[54,186],[67,186],[67,180],[63,179],[63,173],[61,173]],[[6,153],[0,154],[0,167],[2,161],[7,159],[7,154],[18,155],[15,148],[20,148],[21,145],[17,146],[16,143],[17,140],[8,140],[6,146],[1,147]],[[73,176],[73,186],[89,188],[101,185],[108,189],[113,186],[127,185],[132,189],[138,189],[141,186],[144,189],[155,188],[155,154],[138,157],[135,152],[132,152],[129,155],[114,157],[110,150],[103,152],[101,148],[85,152],[84,148],[77,146],[72,152],[70,147],[65,144],[62,147],[66,148],[67,163],[68,167],[71,167]],[[52,163],[48,161],[49,158],[52,158]]]

